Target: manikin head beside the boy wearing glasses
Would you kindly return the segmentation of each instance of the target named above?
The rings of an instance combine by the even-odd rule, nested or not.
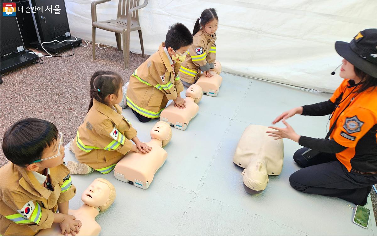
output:
[[[81,201],[90,207],[100,208],[104,211],[110,207],[115,200],[115,188],[106,179],[95,179],[81,195]]]

